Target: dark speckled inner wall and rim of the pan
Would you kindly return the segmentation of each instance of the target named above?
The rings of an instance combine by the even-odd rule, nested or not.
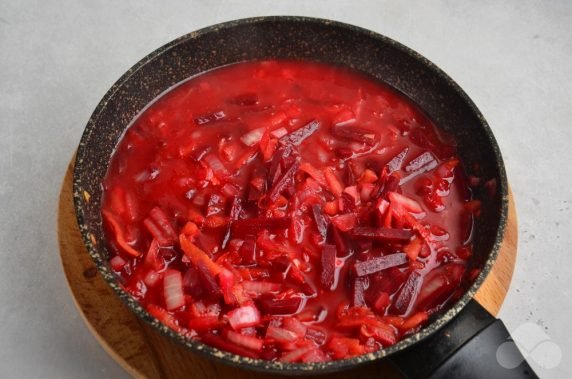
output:
[[[469,174],[496,179],[493,198],[484,192],[476,227],[473,264],[482,272],[448,311],[420,332],[375,353],[327,363],[292,364],[250,359],[186,339],[162,325],[117,283],[103,243],[101,183],[110,156],[131,120],[159,94],[189,76],[235,62],[268,58],[308,59],[343,65],[383,81],[416,102],[453,134]],[[475,168],[475,164],[479,168]],[[182,36],[127,71],[106,93],[89,119],[74,170],[74,203],[90,256],[105,281],[140,318],[191,350],[227,364],[283,374],[339,371],[394,354],[426,337],[458,314],[490,272],[503,239],[508,187],[502,156],[487,122],[463,90],[433,63],[369,30],[323,19],[260,17],[231,21]]]

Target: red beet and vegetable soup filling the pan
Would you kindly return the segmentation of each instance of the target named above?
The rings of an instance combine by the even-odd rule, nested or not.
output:
[[[395,344],[470,282],[452,138],[345,68],[255,61],[137,116],[104,180],[110,264],[189,338],[287,362]]]

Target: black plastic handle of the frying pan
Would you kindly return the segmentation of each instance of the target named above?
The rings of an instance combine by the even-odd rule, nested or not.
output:
[[[499,363],[499,346],[511,341],[504,323],[471,300],[432,336],[390,359],[409,379],[538,378],[514,343],[505,345],[502,353],[510,356],[503,357],[520,364],[506,368]]]

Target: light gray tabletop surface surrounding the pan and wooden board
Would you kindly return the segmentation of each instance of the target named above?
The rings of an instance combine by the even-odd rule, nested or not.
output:
[[[572,377],[572,2],[518,0],[0,0],[0,377],[127,376],[89,334],[60,266],[67,164],[100,98],[143,56],[213,23],[276,14],[397,39],[472,97],[504,153],[519,214],[501,317],[520,328],[542,377]]]

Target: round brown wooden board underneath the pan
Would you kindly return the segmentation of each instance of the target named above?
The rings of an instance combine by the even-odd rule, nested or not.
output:
[[[85,323],[103,348],[135,378],[279,378],[229,367],[194,354],[140,321],[105,281],[87,254],[77,226],[70,164],[60,193],[58,239],[64,272]],[[510,197],[505,239],[492,272],[476,300],[496,315],[508,291],[517,246],[515,206]],[[329,375],[330,378],[399,378],[388,362]]]

